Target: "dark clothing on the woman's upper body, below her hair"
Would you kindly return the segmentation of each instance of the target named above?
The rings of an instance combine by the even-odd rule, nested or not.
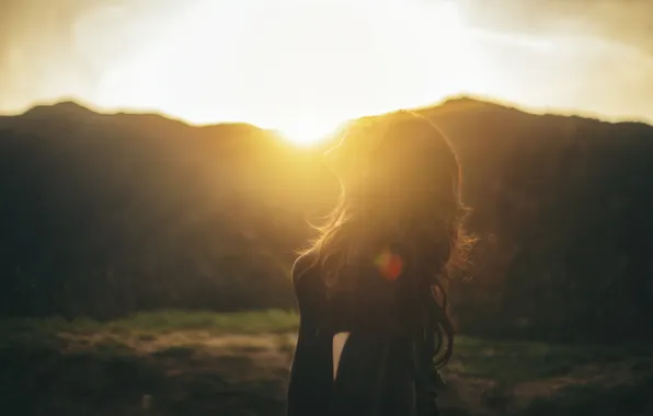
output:
[[[417,394],[422,373],[415,369],[427,367],[419,354],[427,291],[415,274],[387,280],[373,264],[364,265],[353,270],[355,290],[333,294],[312,261],[299,257],[293,268],[300,325],[288,416],[437,414]],[[333,380],[333,336],[340,332],[350,337]]]

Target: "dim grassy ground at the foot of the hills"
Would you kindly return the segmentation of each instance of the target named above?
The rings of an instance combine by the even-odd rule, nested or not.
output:
[[[167,311],[0,321],[7,415],[283,415],[297,316]],[[460,336],[445,415],[653,415],[653,348]]]

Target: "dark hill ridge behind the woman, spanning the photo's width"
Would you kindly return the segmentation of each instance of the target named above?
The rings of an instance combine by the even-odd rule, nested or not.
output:
[[[452,288],[463,331],[653,335],[653,127],[469,97],[419,111],[460,155],[480,239]],[[305,219],[337,192],[328,145],[75,102],[1,117],[1,313],[291,308]]]

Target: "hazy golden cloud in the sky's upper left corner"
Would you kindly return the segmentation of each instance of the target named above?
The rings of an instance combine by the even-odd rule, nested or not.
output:
[[[35,96],[47,100],[88,93],[99,83],[103,58],[116,49],[123,56],[130,48],[136,50],[138,39],[127,39],[125,27],[139,20],[160,19],[160,11],[169,11],[172,3],[51,0],[44,7],[42,0],[0,0],[0,108],[16,103],[26,106]],[[84,35],[93,30],[89,23],[113,27],[89,45],[84,44]],[[139,30],[147,32],[147,26]]]

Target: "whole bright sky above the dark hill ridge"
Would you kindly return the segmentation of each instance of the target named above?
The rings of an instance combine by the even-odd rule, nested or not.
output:
[[[648,0],[0,0],[0,113],[75,99],[310,136],[473,94],[653,122]]]

